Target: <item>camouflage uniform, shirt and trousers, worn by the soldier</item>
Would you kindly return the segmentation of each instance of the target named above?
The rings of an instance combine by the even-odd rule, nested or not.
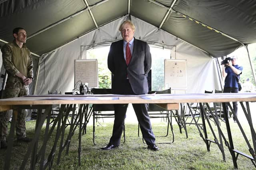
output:
[[[28,78],[33,78],[33,63],[30,50],[23,44],[22,48],[15,41],[4,45],[1,49],[4,68],[8,73],[3,98],[15,98],[29,95],[28,86],[24,85],[22,80],[15,74],[22,73]],[[18,109],[16,122],[17,138],[26,137],[26,111]],[[7,123],[10,120],[10,113],[0,113],[0,140],[5,141],[8,132]]]

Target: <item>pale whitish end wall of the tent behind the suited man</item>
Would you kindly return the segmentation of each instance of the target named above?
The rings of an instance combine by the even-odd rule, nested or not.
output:
[[[157,37],[161,37],[165,44],[168,44],[164,48],[176,51],[172,59],[187,60],[188,89],[184,92],[203,93],[206,89],[221,89],[218,83],[218,73],[216,73],[214,58],[200,49],[184,43],[180,39],[176,39],[175,36],[159,30],[154,25],[150,25],[138,18],[132,17],[131,19],[135,27],[140,28],[135,28],[135,38],[143,39],[144,41],[148,41],[149,44],[152,44],[151,41],[156,42]],[[127,20],[127,17],[108,23],[99,30],[91,31],[76,41],[44,56],[40,64],[41,67],[38,75],[40,79],[36,87],[36,94],[47,94],[48,90],[71,92],[75,83],[74,76],[70,76],[70,74],[74,74],[74,60],[84,59],[81,58],[80,46],[83,47],[85,53],[86,50],[91,49],[94,45],[97,47],[110,45],[111,42],[122,39],[118,27],[124,20]],[[154,43],[154,45],[158,46],[161,44],[161,41]],[[208,84],[205,84],[205,82],[208,82]],[[198,86],[199,84],[200,86]]]

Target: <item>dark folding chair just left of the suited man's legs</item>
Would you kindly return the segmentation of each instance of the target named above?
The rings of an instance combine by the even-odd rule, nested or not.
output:
[[[109,88],[92,88],[91,92],[93,94],[112,94],[112,90]],[[102,113],[104,111],[104,113]],[[108,111],[106,113],[105,111]],[[109,112],[112,111],[112,112]],[[92,114],[93,114],[93,143],[94,145],[101,145],[96,144],[96,128],[95,124],[98,122],[98,119],[102,118],[114,118],[114,105],[113,104],[93,104],[92,105]],[[125,142],[125,126],[124,126],[124,142]]]

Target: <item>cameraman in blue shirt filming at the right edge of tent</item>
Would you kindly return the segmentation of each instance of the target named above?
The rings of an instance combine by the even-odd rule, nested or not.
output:
[[[228,60],[227,64],[222,65],[222,76],[225,78],[225,84],[223,93],[238,93],[238,81],[240,79],[240,74],[242,74],[243,66],[237,64],[237,56],[230,57],[233,60]],[[228,106],[226,105],[227,113]],[[237,102],[233,102],[233,109],[237,116]],[[236,122],[233,116],[234,122]]]

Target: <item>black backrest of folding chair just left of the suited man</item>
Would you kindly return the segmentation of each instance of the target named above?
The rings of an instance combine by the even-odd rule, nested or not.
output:
[[[92,88],[93,94],[112,94],[111,88]],[[113,111],[113,104],[93,104],[93,111]]]

